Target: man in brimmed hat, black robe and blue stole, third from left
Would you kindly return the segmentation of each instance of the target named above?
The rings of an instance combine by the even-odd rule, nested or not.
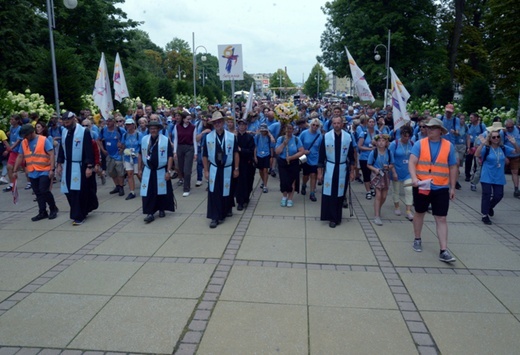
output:
[[[210,228],[216,228],[226,217],[233,215],[233,195],[231,181],[238,178],[238,144],[233,133],[224,130],[224,116],[215,111],[210,122],[215,128],[208,133],[202,146],[204,177],[209,181],[208,210]]]

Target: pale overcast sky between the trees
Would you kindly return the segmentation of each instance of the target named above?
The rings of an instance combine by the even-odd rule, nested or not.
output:
[[[307,80],[321,54],[325,0],[126,0],[119,5],[163,47],[174,37],[216,56],[219,44],[241,44],[244,70],[273,73],[287,67],[293,82]],[[197,53],[204,52],[198,49]]]

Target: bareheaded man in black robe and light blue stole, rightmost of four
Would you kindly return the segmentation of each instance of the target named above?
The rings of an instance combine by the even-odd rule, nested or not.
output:
[[[342,117],[335,116],[332,118],[333,129],[323,137],[318,159],[318,180],[323,179],[320,219],[329,221],[330,228],[336,228],[336,225],[341,223],[349,165],[350,181],[353,181],[356,177],[356,160],[352,136],[342,127]]]

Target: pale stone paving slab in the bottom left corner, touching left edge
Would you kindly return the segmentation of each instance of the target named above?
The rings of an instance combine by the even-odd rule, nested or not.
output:
[[[65,348],[109,297],[35,293],[0,317],[0,344]]]

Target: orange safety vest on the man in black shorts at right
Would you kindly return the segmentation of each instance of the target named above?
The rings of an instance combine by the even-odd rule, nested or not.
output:
[[[417,162],[417,178],[419,180],[432,179],[436,186],[446,186],[450,183],[450,167],[448,156],[450,155],[450,142],[441,138],[441,149],[435,162],[432,162],[430,153],[430,140],[424,138],[421,142],[421,155]]]

